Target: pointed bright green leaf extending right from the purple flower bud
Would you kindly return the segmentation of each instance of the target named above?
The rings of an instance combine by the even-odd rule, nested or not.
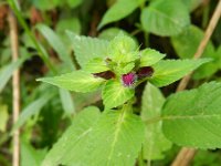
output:
[[[152,66],[155,72],[149,81],[156,86],[166,86],[180,80],[198,66],[209,61],[210,59],[161,60]]]

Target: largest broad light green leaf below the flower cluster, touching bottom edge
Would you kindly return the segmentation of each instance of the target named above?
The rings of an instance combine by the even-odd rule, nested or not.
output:
[[[74,118],[42,166],[133,166],[143,141],[144,124],[127,108],[101,115],[96,107],[87,107]]]

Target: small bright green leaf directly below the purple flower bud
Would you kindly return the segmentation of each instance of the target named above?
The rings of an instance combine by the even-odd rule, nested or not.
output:
[[[135,94],[131,87],[125,87],[119,81],[108,81],[102,92],[105,108],[119,106]]]

